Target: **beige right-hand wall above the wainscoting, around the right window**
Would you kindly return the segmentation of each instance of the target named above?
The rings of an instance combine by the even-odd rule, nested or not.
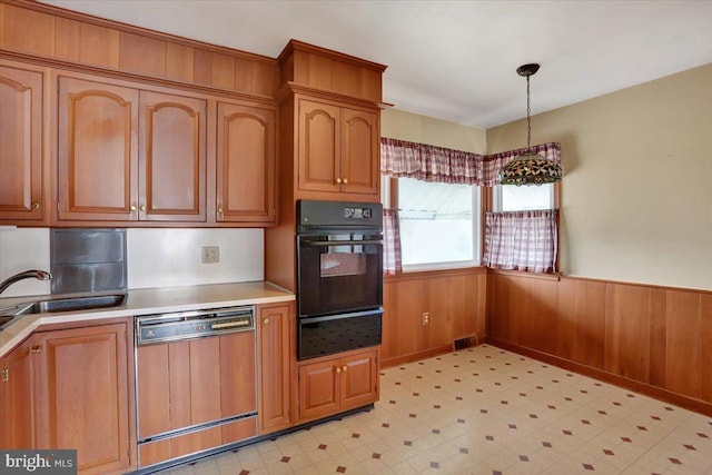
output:
[[[536,115],[532,141],[562,145],[563,273],[712,289],[712,63]]]

